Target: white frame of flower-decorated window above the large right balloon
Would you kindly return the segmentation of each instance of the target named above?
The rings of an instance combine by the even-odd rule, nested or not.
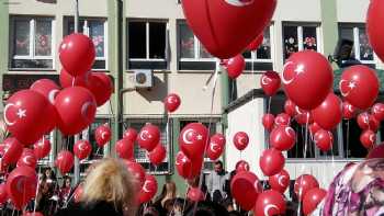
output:
[[[304,32],[303,27],[316,27],[316,52],[323,54],[323,34],[321,23],[318,22],[282,22],[282,45],[283,45],[283,60],[285,61],[285,42],[284,42],[284,27],[294,26],[297,31],[297,52],[304,50]]]

